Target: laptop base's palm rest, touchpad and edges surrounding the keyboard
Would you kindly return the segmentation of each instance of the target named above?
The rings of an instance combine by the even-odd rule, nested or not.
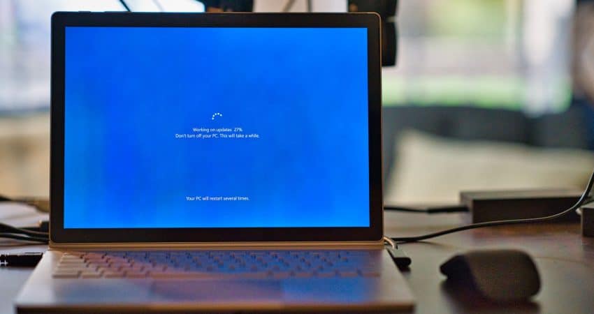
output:
[[[365,252],[365,265],[375,265],[377,276],[201,279],[55,278],[65,252],[50,250],[15,306],[17,313],[410,311],[414,299],[389,253]]]

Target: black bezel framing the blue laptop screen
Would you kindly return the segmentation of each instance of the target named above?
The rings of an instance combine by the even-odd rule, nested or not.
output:
[[[380,18],[375,13],[66,13],[52,15],[50,240],[56,244],[379,241],[383,237]],[[66,27],[364,27],[368,29],[369,227],[64,228]]]

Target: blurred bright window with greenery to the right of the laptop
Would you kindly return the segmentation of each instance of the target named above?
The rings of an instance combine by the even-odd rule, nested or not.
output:
[[[564,110],[571,0],[399,1],[398,66],[384,105]]]

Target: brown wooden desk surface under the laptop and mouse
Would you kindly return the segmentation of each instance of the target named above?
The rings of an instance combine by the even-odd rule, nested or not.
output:
[[[0,208],[1,209],[1,208]],[[405,214],[386,212],[386,234],[423,234],[466,223],[464,214]],[[4,217],[6,223],[29,223],[38,214]],[[582,238],[572,223],[489,227],[449,234],[426,243],[404,244],[412,257],[403,274],[417,300],[415,313],[593,313],[594,238]],[[456,253],[475,248],[519,248],[535,258],[542,289],[532,303],[501,306],[477,297],[463,287],[444,283],[439,265]],[[43,246],[13,247],[34,251]],[[8,251],[0,248],[0,251]],[[13,299],[31,269],[0,268],[0,313],[13,313]]]

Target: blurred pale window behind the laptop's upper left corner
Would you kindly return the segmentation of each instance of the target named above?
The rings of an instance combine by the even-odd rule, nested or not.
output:
[[[203,12],[194,0],[126,0],[133,11]],[[0,1],[0,113],[47,110],[50,16],[55,11],[121,11],[118,0]]]

